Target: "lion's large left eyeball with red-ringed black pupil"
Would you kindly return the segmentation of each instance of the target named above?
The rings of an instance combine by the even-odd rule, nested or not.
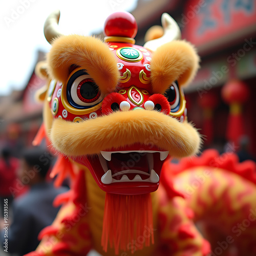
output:
[[[102,101],[102,96],[97,84],[86,73],[79,70],[68,81],[67,96],[75,108],[86,108]]]

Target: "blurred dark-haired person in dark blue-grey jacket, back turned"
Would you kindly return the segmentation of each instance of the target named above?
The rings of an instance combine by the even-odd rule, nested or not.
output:
[[[8,228],[10,253],[24,255],[35,250],[39,244],[38,233],[51,225],[57,215],[59,207],[53,207],[53,200],[67,188],[57,189],[52,182],[46,181],[52,159],[50,153],[39,147],[27,149],[22,154],[18,176],[30,190],[13,201],[13,221]],[[0,240],[3,246],[4,230]]]

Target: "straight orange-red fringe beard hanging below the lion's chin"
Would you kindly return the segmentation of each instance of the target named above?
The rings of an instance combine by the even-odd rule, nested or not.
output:
[[[145,230],[150,236],[145,236]],[[124,196],[106,193],[101,245],[104,251],[110,247],[132,253],[137,249],[138,239],[142,237],[145,246],[154,244],[153,214],[150,194]]]

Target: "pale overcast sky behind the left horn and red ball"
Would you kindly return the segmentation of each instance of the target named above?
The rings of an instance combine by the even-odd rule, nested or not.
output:
[[[65,34],[90,35],[102,30],[115,11],[132,11],[137,0],[2,0],[0,1],[0,95],[26,86],[38,49],[49,51],[43,28],[48,14],[60,10],[59,28]]]

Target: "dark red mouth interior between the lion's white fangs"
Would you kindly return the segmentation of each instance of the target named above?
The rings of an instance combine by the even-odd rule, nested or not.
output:
[[[153,157],[153,156],[152,156]],[[150,174],[150,169],[147,162],[147,157],[145,153],[112,153],[111,160],[108,161],[108,167],[112,171],[112,175],[115,175],[116,173],[120,173],[120,175],[117,175],[114,177],[116,180],[120,180],[122,173],[125,170],[140,170],[141,172],[145,172],[147,174]],[[136,173],[131,173],[125,175],[130,179],[133,180],[134,177],[137,175]],[[140,174],[140,177],[142,180],[147,179],[149,176]]]

